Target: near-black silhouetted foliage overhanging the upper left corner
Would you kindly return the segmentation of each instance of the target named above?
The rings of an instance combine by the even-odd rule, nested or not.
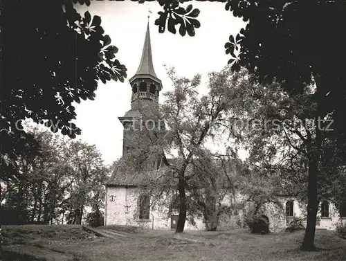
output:
[[[31,147],[21,120],[74,138],[80,129],[72,123],[72,102],[93,100],[97,80],[123,81],[126,68],[100,17],[81,17],[70,0],[3,1],[0,24],[1,170],[10,174],[17,152]]]

